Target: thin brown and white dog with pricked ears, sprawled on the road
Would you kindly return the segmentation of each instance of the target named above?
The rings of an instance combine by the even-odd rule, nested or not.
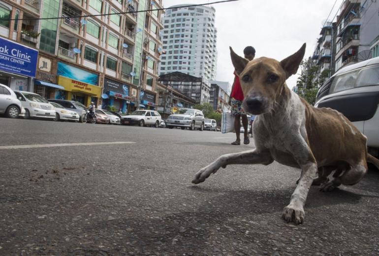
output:
[[[330,108],[314,108],[286,86],[285,80],[297,72],[305,46],[281,62],[265,57],[249,62],[230,47],[245,95],[242,106],[257,115],[253,126],[256,148],[221,156],[197,172],[192,181],[203,182],[229,164],[268,165],[276,160],[301,168],[282,215],[286,222],[295,224],[304,222],[304,205],[312,184],[321,185],[321,191],[332,191],[341,184],[359,182],[367,172],[366,161],[379,168],[379,160],[367,153],[367,137],[344,115]],[[334,179],[329,181],[332,171]]]

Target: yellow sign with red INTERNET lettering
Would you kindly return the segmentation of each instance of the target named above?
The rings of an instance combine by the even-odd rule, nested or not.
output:
[[[101,87],[83,83],[65,76],[58,76],[58,84],[62,85],[64,90],[68,92],[80,92],[95,97],[100,97],[101,95]]]

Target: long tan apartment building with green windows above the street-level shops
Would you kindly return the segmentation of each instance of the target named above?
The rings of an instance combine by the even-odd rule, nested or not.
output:
[[[1,17],[23,19],[1,21],[0,36],[39,52],[35,77],[0,71],[0,82],[18,90],[22,83],[13,80],[23,79],[23,90],[47,98],[86,105],[95,101],[123,112],[154,108],[162,29],[162,11],[156,9],[161,4],[161,0],[0,0]],[[118,14],[146,9],[153,10]]]

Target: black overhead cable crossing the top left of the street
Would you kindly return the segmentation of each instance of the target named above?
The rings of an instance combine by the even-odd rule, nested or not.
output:
[[[223,3],[223,2],[233,2],[233,1],[239,1],[239,0],[220,0],[215,2],[208,2],[208,3],[199,3],[199,4],[190,4],[190,5],[184,5],[180,6],[180,8],[184,7],[196,7],[201,5],[210,5],[210,4],[217,4],[217,3]],[[98,16],[109,16],[109,15],[118,15],[118,14],[127,14],[127,13],[139,13],[139,12],[148,12],[148,11],[162,11],[162,10],[169,10],[169,9],[175,9],[178,7],[167,7],[167,8],[157,8],[157,9],[148,9],[148,10],[140,10],[140,11],[127,11],[127,12],[117,12],[117,13],[104,13],[104,14],[92,14],[92,15],[81,15],[81,16],[70,16],[68,18],[87,18],[87,17],[98,17]],[[33,21],[33,20],[59,20],[59,19],[67,19],[67,17],[53,17],[53,18],[29,18],[29,19],[0,19],[0,21]]]

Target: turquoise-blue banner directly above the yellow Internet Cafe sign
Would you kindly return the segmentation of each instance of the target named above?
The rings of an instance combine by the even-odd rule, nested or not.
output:
[[[58,62],[57,75],[65,76],[83,83],[97,85],[98,75],[86,70]]]

